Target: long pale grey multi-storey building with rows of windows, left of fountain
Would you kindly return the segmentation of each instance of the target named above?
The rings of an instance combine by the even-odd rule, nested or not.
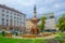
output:
[[[0,29],[24,30],[26,15],[12,8],[0,4]]]

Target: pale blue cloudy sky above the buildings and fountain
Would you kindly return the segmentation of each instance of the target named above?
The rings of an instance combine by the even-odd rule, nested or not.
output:
[[[65,0],[0,0],[0,4],[18,10],[27,15],[27,18],[34,16],[34,6],[37,8],[38,17],[44,13],[54,12],[56,18],[65,13]]]

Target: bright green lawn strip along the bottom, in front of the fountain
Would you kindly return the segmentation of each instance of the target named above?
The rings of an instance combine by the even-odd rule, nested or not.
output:
[[[43,39],[10,39],[10,38],[0,38],[0,43],[42,43],[46,40]]]

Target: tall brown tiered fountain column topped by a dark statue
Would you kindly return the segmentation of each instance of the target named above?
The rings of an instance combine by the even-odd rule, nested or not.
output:
[[[38,29],[38,22],[39,19],[37,18],[37,12],[36,12],[36,5],[34,8],[34,17],[31,19],[31,23],[34,24],[34,26],[31,27],[31,30],[30,30],[30,34],[38,34],[39,33],[39,29]]]

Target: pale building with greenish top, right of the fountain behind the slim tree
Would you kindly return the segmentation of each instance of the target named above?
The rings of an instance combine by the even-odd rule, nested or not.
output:
[[[44,25],[44,30],[55,30],[56,29],[56,20],[54,13],[48,13],[43,14],[43,16],[47,18],[46,19],[46,25]],[[38,25],[41,23],[41,20],[38,23]]]

